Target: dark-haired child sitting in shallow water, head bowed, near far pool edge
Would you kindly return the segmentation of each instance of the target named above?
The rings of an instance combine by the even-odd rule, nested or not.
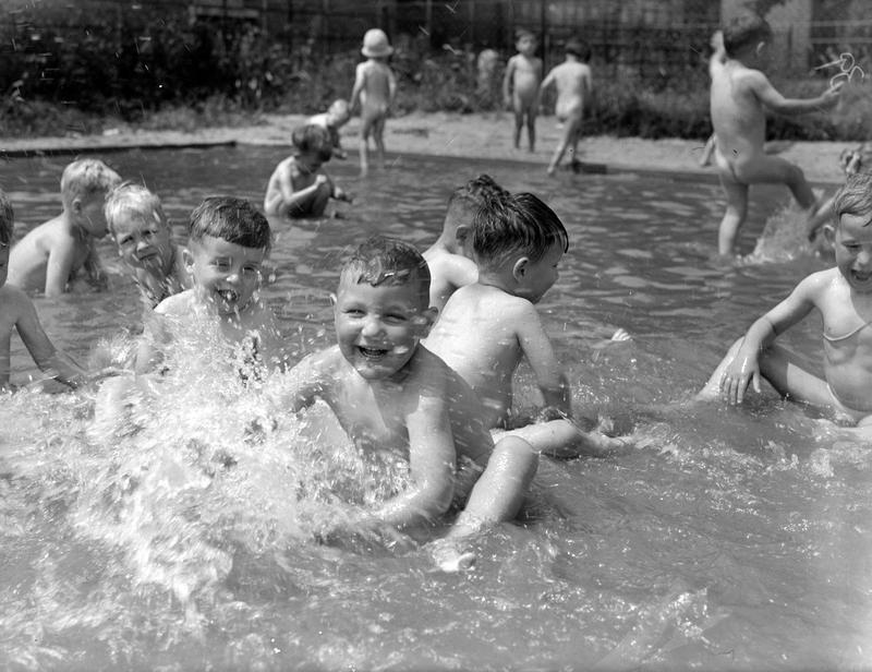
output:
[[[322,170],[334,155],[329,132],[315,124],[298,127],[291,142],[293,154],[269,176],[264,212],[270,217],[323,217],[330,199],[350,202],[351,196]]]

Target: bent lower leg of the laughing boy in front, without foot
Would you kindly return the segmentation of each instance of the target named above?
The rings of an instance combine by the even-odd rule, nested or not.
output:
[[[446,538],[461,539],[487,524],[512,520],[521,509],[537,467],[538,454],[526,441],[518,436],[500,439]]]

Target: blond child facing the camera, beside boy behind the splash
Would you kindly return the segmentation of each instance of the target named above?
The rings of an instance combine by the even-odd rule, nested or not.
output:
[[[182,250],[172,242],[170,223],[157,194],[125,182],[109,192],[104,213],[118,255],[133,272],[149,310],[191,287]]]

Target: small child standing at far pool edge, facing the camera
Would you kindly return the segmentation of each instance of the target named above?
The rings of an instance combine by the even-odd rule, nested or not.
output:
[[[519,31],[514,47],[518,53],[509,59],[502,77],[502,98],[506,107],[514,112],[514,148],[521,146],[521,129],[526,123],[530,151],[534,152],[542,60],[533,56],[536,51],[536,38],[530,31]]]

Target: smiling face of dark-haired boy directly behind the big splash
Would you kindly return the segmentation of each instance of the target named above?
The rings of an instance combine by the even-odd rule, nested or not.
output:
[[[184,251],[194,286],[221,316],[239,314],[250,307],[261,285],[266,250],[244,248],[214,236],[191,241]]]

